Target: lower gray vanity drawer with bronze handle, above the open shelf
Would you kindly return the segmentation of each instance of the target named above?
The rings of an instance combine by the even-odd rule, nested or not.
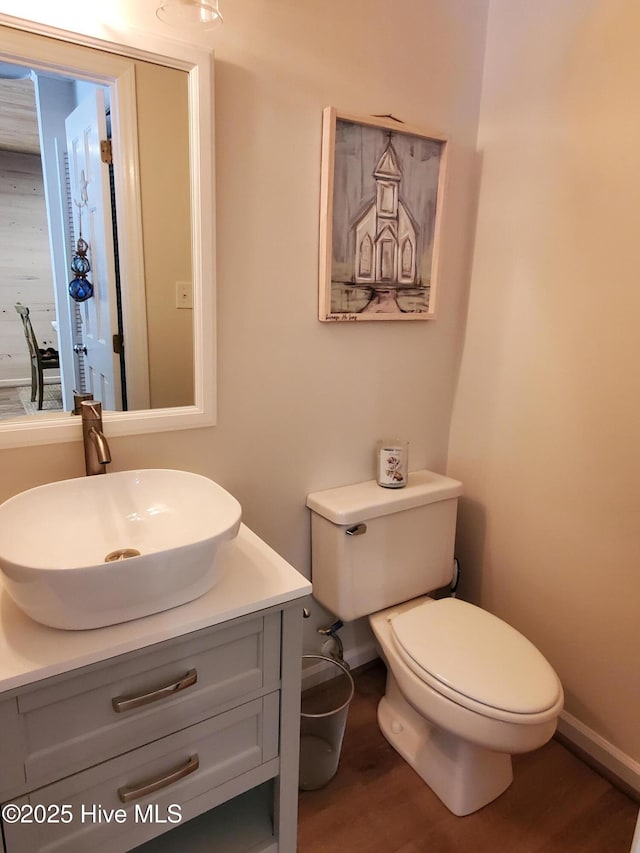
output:
[[[260,765],[266,765],[265,775],[277,774],[278,716],[276,691],[14,800],[18,806],[37,806],[34,815],[60,807],[58,813],[72,819],[5,823],[7,850],[124,851],[165,832],[178,825],[173,821],[180,814],[189,819],[218,805],[222,799],[216,788],[230,780]],[[123,802],[131,789],[181,773],[165,787],[147,794],[134,791],[133,799]]]

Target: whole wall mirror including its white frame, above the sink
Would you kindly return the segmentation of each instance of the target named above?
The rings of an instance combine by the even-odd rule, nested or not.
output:
[[[0,446],[213,421],[210,55],[135,40],[0,15]]]

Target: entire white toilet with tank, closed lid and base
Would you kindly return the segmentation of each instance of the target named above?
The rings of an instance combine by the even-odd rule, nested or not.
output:
[[[457,815],[498,797],[511,755],[553,735],[562,685],[506,622],[449,584],[462,484],[430,471],[402,489],[375,482],[314,492],[313,595],[343,621],[369,616],[387,665],[378,722],[391,745]]]

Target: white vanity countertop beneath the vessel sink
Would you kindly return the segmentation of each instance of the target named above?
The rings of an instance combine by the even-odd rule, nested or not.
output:
[[[222,577],[201,598],[87,631],[34,622],[13,603],[0,580],[0,693],[311,593],[311,583],[244,524],[222,559]]]

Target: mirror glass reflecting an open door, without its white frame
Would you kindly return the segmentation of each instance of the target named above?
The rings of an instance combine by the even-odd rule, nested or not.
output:
[[[26,40],[31,56],[42,55],[40,41]],[[0,209],[9,223],[0,233],[4,417],[12,400],[14,415],[69,411],[74,393],[91,393],[116,411],[193,403],[187,74],[129,62],[135,99],[126,118],[114,116],[108,85],[71,76],[71,68],[0,65]],[[137,283],[122,275],[118,241],[117,178],[126,163],[118,162],[113,128],[123,120],[136,123],[140,141],[128,156],[138,158],[141,176],[144,268],[153,275],[169,245],[175,267],[174,276],[166,264],[163,274],[155,270],[154,287],[142,282],[138,300],[127,293]],[[16,304],[29,308],[38,349],[60,353],[44,395],[38,373],[29,375],[33,355],[19,340]],[[131,357],[130,335],[148,343],[132,347]]]

